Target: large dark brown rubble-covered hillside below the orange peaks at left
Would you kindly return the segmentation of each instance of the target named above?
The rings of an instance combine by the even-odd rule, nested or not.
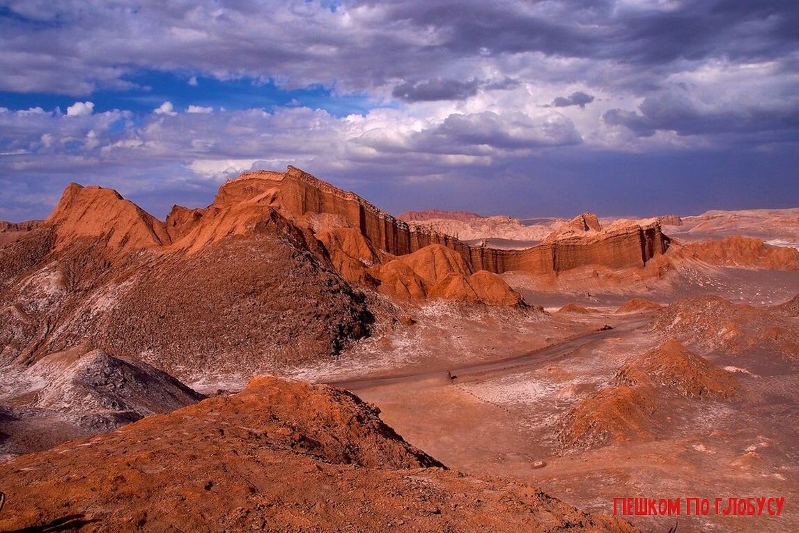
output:
[[[77,221],[67,229],[81,228],[77,215],[58,215]],[[0,362],[27,366],[88,340],[181,380],[241,380],[336,356],[368,335],[374,317],[364,294],[279,213],[267,210],[241,226],[246,234],[227,237],[208,213],[201,221],[173,245],[143,241],[148,248],[136,252],[126,248],[133,238],[83,233],[70,241],[57,224],[0,249],[0,265],[18,267],[0,276]],[[53,245],[59,231],[61,249]],[[199,245],[205,237],[219,241]]]

